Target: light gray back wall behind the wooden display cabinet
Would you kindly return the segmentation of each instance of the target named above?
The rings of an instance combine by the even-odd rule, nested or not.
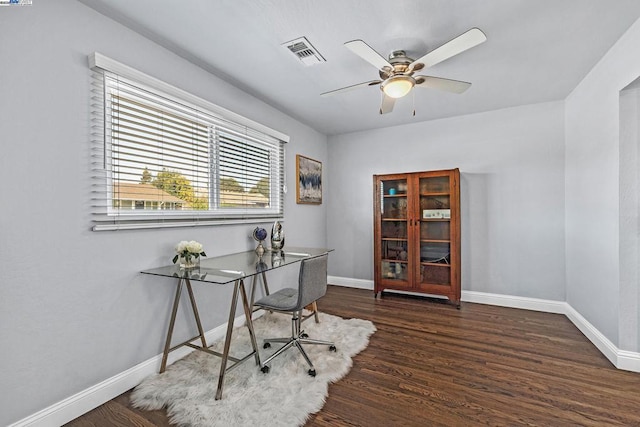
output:
[[[563,111],[545,103],[330,137],[331,274],[373,278],[373,174],[457,167],[462,289],[564,301]]]

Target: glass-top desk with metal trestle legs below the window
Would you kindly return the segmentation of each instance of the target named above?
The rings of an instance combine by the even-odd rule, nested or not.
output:
[[[141,273],[144,274],[177,279],[176,295],[173,301],[173,308],[171,309],[171,320],[169,321],[167,340],[165,342],[164,352],[162,354],[160,373],[164,372],[167,367],[167,358],[169,356],[169,353],[183,346],[191,347],[196,350],[201,350],[209,354],[221,357],[222,361],[220,364],[220,376],[218,378],[216,400],[221,399],[222,388],[224,386],[224,376],[229,369],[232,369],[238,366],[240,363],[250,359],[251,356],[254,356],[256,364],[260,366],[260,354],[258,352],[258,345],[256,343],[256,336],[253,331],[253,322],[251,319],[251,315],[253,313],[252,306],[256,287],[256,279],[261,279],[265,293],[268,294],[269,288],[265,275],[267,271],[279,267],[284,267],[285,265],[298,263],[305,258],[312,258],[315,256],[323,255],[330,251],[331,249],[324,248],[286,248],[283,251],[266,251],[261,257],[258,257],[255,251],[247,251],[230,255],[223,255],[219,257],[200,258],[200,266],[191,269],[180,268],[178,265],[169,265],[142,271]],[[250,300],[247,298],[247,290],[245,288],[245,280],[248,278],[251,278],[252,282]],[[196,299],[193,293],[193,288],[191,287],[191,281],[205,282],[215,285],[227,285],[231,283],[234,284],[233,295],[231,297],[231,305],[229,308],[229,321],[227,323],[227,332],[224,340],[224,350],[222,353],[213,351],[207,346],[207,342],[204,336],[204,329],[202,328],[200,315],[198,314]],[[186,286],[187,292],[189,293],[191,308],[193,310],[193,317],[198,327],[198,335],[172,347],[171,336],[173,335],[176,314],[178,312],[178,305],[180,303],[180,295],[184,286]],[[229,355],[231,336],[233,334],[233,321],[236,316],[236,306],[238,305],[238,295],[240,295],[242,301],[242,307],[246,319],[246,326],[249,329],[249,336],[251,338],[251,345],[253,348],[253,351],[251,353],[240,358],[232,357]],[[200,340],[201,345],[192,343],[192,341],[198,339]],[[231,360],[233,364],[227,367],[227,363],[229,360]]]

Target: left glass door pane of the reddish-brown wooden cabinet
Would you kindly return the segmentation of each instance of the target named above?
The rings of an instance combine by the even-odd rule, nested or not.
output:
[[[409,279],[407,180],[386,180],[380,183],[380,239],[382,249],[382,279]]]

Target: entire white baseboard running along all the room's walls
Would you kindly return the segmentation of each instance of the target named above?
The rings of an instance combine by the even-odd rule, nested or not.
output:
[[[350,279],[338,276],[328,276],[327,279],[332,285],[370,289],[373,291],[372,280]],[[564,314],[616,368],[640,373],[640,353],[618,349],[607,337],[600,333],[600,331],[566,302],[475,291],[462,291],[462,301]],[[260,315],[261,313],[258,312],[255,317],[259,317]],[[244,325],[244,316],[237,317],[234,324]],[[225,323],[206,332],[205,337],[207,341],[214,342],[215,340],[221,339],[226,332],[226,328],[227,325]],[[173,363],[192,351],[194,350],[188,347],[180,348],[169,354],[168,363]],[[147,376],[158,372],[161,361],[161,354],[154,356],[93,387],[11,424],[9,427],[55,427],[65,424],[130,390]]]

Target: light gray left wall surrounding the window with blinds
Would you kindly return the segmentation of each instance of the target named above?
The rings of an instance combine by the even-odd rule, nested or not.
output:
[[[173,282],[138,272],[169,263],[176,242],[197,239],[210,256],[255,243],[255,224],[89,231],[88,54],[290,135],[287,244],[326,244],[326,204],[295,203],[295,154],[326,162],[324,135],[74,0],[33,3],[0,13],[0,425],[161,353]],[[195,292],[206,330],[226,322],[229,287]],[[180,322],[176,340],[194,334],[192,323]]]

